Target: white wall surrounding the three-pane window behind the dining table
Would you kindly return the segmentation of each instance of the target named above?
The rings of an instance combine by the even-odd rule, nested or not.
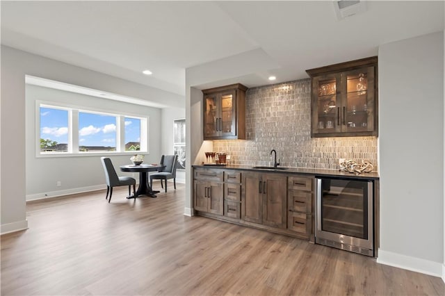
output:
[[[70,104],[74,106],[102,110],[109,113],[123,113],[149,117],[148,154],[146,163],[155,163],[161,155],[161,109],[128,104],[120,101],[90,97],[74,92],[54,90],[36,85],[26,85],[26,200],[39,199],[105,188],[104,172],[100,157],[95,156],[59,156],[39,158],[35,156],[36,128],[35,101]],[[37,113],[38,114],[38,113]],[[113,165],[129,164],[132,153],[127,155],[110,155]],[[118,169],[117,169],[118,170]],[[138,174],[127,174],[138,179]],[[61,181],[62,186],[56,186]]]

